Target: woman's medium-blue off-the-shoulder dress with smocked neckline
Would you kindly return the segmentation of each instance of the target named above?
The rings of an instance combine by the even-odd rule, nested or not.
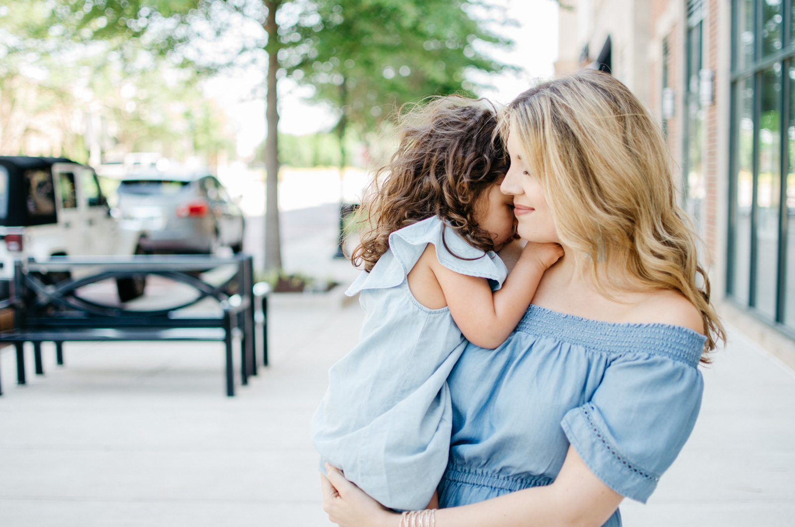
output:
[[[607,486],[646,502],[696,422],[704,341],[680,326],[529,306],[498,349],[467,345],[448,378],[440,506],[549,485],[569,443]],[[619,527],[619,511],[604,525]]]

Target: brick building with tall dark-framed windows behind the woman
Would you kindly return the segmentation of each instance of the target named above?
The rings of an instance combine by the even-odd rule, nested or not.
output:
[[[556,74],[601,68],[668,138],[713,299],[795,367],[795,0],[567,0]]]

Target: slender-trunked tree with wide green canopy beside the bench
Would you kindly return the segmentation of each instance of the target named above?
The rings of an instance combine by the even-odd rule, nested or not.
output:
[[[27,0],[25,0],[27,1]],[[266,269],[281,268],[277,174],[278,96],[282,76],[316,88],[315,99],[339,111],[337,133],[353,123],[377,126],[390,109],[423,96],[469,92],[467,68],[498,71],[476,41],[503,42],[480,29],[464,8],[471,0],[52,0],[53,24],[64,34],[104,39],[120,50],[131,41],[173,64],[214,72],[240,61],[267,57],[266,74]],[[260,36],[227,45],[225,59],[203,53],[241,24]],[[226,40],[228,43],[228,39]],[[220,48],[221,46],[217,46]],[[237,57],[237,58],[235,58]],[[339,141],[340,149],[344,141]],[[344,152],[340,156],[345,159]]]

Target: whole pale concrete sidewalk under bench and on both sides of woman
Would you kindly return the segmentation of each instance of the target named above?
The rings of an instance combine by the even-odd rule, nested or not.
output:
[[[293,238],[285,266],[304,268],[331,254],[334,230]],[[0,525],[329,525],[308,420],[363,319],[339,300],[339,289],[273,295],[271,365],[234,398],[217,343],[67,344],[65,368],[45,345],[46,375],[24,387],[13,350],[0,350]],[[704,369],[684,451],[647,506],[622,506],[627,527],[795,525],[795,373],[733,328],[730,338]]]

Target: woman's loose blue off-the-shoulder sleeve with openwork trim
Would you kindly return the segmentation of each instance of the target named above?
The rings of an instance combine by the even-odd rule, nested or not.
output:
[[[638,502],[646,503],[677,458],[701,405],[704,337],[683,328],[680,340],[669,344],[682,353],[630,353],[612,361],[591,400],[561,423],[591,472]]]

